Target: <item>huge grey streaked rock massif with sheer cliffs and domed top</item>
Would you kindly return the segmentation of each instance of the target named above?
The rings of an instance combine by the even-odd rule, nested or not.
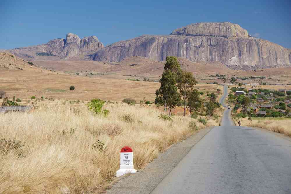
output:
[[[220,61],[232,69],[258,69],[291,64],[291,52],[267,40],[253,38],[238,24],[199,23],[174,30],[170,35],[145,35],[99,49],[93,60],[119,62],[142,56],[163,61],[167,56],[191,61]]]

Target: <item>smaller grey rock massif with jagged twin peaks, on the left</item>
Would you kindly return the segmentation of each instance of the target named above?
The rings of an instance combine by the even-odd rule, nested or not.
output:
[[[96,36],[81,39],[73,33],[68,33],[66,39],[58,38],[43,45],[15,48],[10,52],[27,60],[43,58],[57,60],[92,54],[102,47],[103,43],[99,42]]]

